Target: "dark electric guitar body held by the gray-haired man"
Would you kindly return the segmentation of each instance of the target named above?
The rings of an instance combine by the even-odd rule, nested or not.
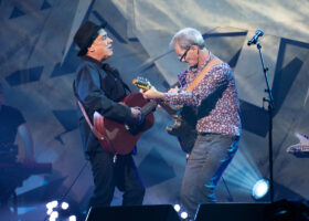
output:
[[[174,125],[167,126],[166,129],[170,135],[177,136],[181,149],[190,154],[198,137],[195,125],[195,109],[189,106],[184,106],[181,109],[181,113],[174,119]]]

